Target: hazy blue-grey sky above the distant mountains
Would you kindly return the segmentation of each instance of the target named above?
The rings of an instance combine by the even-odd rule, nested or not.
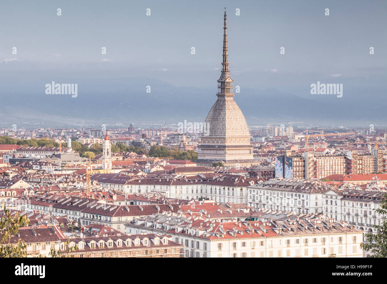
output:
[[[257,90],[269,95],[293,94],[325,102],[328,107],[335,104],[335,96],[310,94],[310,85],[317,81],[342,83],[343,106],[351,100],[359,101],[351,105],[359,109],[365,104],[380,107],[384,104],[380,98],[384,100],[387,88],[385,0],[3,2],[0,97],[12,94],[17,101],[18,94],[41,94],[45,98],[44,85],[51,80],[89,82],[79,86],[85,101],[86,91],[92,98],[94,88],[106,94],[117,90],[117,95],[123,89],[140,88],[146,94],[149,78],[152,82],[160,80],[177,87],[199,88],[205,92],[203,95],[208,94],[205,104],[194,105],[204,120],[216,100],[224,7],[228,14],[230,75],[234,86],[241,87],[241,94],[235,96],[238,104],[243,106],[242,100],[248,98],[243,90],[250,95]],[[61,16],[57,15],[58,8]],[[150,16],[146,15],[148,8]],[[325,15],[326,8],[329,16]],[[240,9],[240,15],[236,15],[236,9]],[[12,54],[13,47],[17,48],[17,54]],[[102,47],[106,47],[106,54],[101,54]],[[192,47],[195,54],[191,54]],[[281,47],[285,48],[285,54],[280,54]],[[374,54],[370,54],[370,47],[374,48]],[[139,86],[134,86],[137,81],[129,80],[130,77],[141,78]],[[98,84],[90,83],[93,80]],[[108,87],[108,83],[113,87]],[[176,95],[171,93],[170,99],[175,100]],[[192,95],[187,96],[194,101]],[[56,99],[60,107],[60,98],[50,97],[54,102]],[[133,96],[118,96],[113,105],[132,99]],[[261,106],[258,99],[253,100],[257,109],[281,103],[273,101]],[[26,102],[22,95],[19,102]],[[26,104],[22,106],[28,107],[29,102]],[[15,106],[15,102],[9,99],[9,105]],[[143,107],[146,105],[149,104],[144,101]],[[136,106],[132,105],[134,109]],[[241,108],[244,111],[247,107]],[[74,112],[74,116],[82,114]],[[376,111],[366,112],[373,119]],[[259,117],[259,113],[246,115]]]

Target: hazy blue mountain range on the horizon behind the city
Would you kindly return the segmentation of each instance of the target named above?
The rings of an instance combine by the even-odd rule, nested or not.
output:
[[[78,95],[46,95],[47,83],[77,83]],[[22,80],[0,78],[2,111],[0,128],[12,124],[43,122],[44,126],[76,124],[130,124],[140,122],[204,122],[216,101],[214,88],[175,87],[169,83],[138,78],[76,78],[46,73]],[[147,93],[147,86],[151,92]],[[284,94],[275,88],[243,89],[235,100],[250,125],[304,121],[305,124],[387,124],[383,90],[345,90],[335,95]]]

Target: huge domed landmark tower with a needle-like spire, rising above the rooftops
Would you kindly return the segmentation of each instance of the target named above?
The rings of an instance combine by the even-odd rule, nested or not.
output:
[[[209,166],[221,162],[227,168],[257,165],[253,159],[250,132],[242,111],[233,99],[233,80],[229,74],[227,48],[227,16],[224,11],[223,61],[218,82],[217,100],[212,105],[197,148],[198,166]]]

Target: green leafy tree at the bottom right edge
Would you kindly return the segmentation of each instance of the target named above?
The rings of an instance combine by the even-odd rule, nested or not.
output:
[[[382,216],[387,215],[387,193],[384,194],[378,209],[373,209]],[[366,252],[371,251],[370,257],[387,257],[387,218],[381,225],[373,225],[376,234],[367,232],[364,236],[365,242],[360,247]]]

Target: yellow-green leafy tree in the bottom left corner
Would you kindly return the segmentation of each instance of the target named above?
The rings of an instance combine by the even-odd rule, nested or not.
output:
[[[14,217],[11,216],[11,211],[5,209],[4,215],[0,220],[0,257],[27,257],[27,245],[22,239],[19,239],[16,243],[10,244],[12,236],[15,236],[19,231],[19,228],[28,226],[29,219],[27,215],[20,216],[16,213]],[[6,245],[3,245],[6,244]]]

